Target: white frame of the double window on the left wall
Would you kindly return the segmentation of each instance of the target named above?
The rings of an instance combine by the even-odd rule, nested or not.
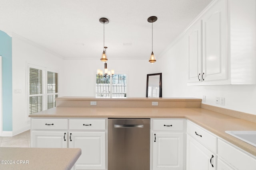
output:
[[[58,73],[58,77],[59,77],[59,72],[58,70],[53,70],[53,69],[50,69],[50,68],[46,68],[46,67],[42,67],[42,66],[38,66],[38,65],[35,65],[35,64],[29,64],[27,63],[27,70],[26,70],[26,113],[27,113],[27,117],[28,115],[30,115],[29,113],[29,105],[30,105],[30,96],[43,96],[43,101],[42,101],[42,110],[46,110],[47,109],[47,97],[49,95],[59,95],[59,93],[50,93],[48,94],[47,92],[47,80],[48,80],[48,77],[47,77],[47,72],[55,72],[55,73]],[[30,68],[35,68],[35,69],[39,69],[39,70],[42,70],[43,71],[43,74],[44,74],[44,80],[42,80],[43,84],[42,84],[42,95],[30,95]],[[59,82],[59,81],[58,81]],[[59,84],[58,84],[59,86]],[[29,117],[27,119],[27,121],[29,121]]]

